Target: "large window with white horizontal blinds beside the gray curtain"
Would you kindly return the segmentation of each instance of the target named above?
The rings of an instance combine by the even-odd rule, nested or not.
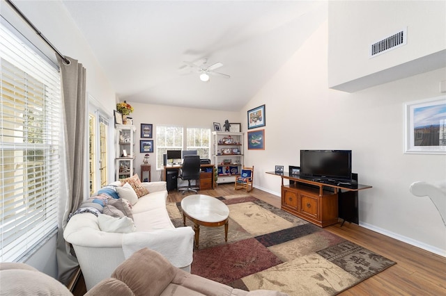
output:
[[[57,227],[60,76],[3,26],[0,64],[0,261],[17,261]]]

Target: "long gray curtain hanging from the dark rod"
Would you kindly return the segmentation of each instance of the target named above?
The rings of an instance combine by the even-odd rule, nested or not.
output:
[[[56,258],[59,268],[59,281],[67,284],[77,270],[77,258],[71,247],[63,239],[68,215],[77,210],[84,195],[84,153],[86,149],[86,70],[77,60],[66,64],[57,56],[61,68],[61,92],[63,101],[63,126],[65,138],[65,167],[67,195],[61,194],[59,206],[59,231],[57,236]],[[63,200],[66,199],[66,200]]]

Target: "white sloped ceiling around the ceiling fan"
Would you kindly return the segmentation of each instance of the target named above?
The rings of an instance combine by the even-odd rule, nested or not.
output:
[[[325,1],[63,3],[121,100],[215,110],[245,106],[327,18]],[[203,58],[231,78],[183,63]]]

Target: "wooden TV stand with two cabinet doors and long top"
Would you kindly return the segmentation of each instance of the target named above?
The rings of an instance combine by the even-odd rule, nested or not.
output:
[[[368,185],[321,183],[288,172],[267,172],[282,177],[282,210],[296,215],[318,227],[338,222],[338,190],[358,191],[371,188]],[[284,185],[289,179],[289,185]]]

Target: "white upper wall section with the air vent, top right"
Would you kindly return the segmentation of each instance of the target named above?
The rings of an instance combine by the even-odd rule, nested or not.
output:
[[[399,73],[398,65],[446,49],[446,1],[329,1],[328,7],[330,87],[348,81],[380,81],[384,76],[389,76],[387,81],[392,81],[392,75],[408,77],[404,72],[413,73],[413,68],[401,66],[403,72]],[[407,28],[406,45],[369,58],[371,44],[403,28]],[[428,63],[424,61],[424,65]],[[429,70],[445,67],[444,54],[436,65]],[[422,67],[418,65],[419,71],[413,74],[424,72]],[[371,75],[376,72],[380,75]]]

